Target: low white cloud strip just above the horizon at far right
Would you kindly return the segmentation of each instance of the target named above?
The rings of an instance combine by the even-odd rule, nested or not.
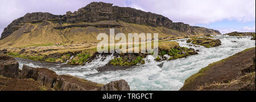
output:
[[[255,26],[254,27],[248,27],[244,26],[242,29],[218,29],[222,34],[230,33],[230,32],[255,32]]]

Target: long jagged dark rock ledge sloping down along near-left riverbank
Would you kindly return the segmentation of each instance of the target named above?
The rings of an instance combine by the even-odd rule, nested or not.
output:
[[[100,90],[100,87],[103,86],[78,77],[69,75],[59,76],[47,68],[32,68],[27,65],[23,65],[20,78],[32,78],[48,89],[53,88],[57,91]]]

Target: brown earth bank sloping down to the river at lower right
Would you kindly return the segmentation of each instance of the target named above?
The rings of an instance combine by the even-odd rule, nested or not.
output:
[[[180,90],[255,90],[255,47],[201,69]]]

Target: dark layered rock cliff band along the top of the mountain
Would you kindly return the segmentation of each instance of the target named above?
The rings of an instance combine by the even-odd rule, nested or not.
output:
[[[172,23],[172,20],[158,14],[152,14],[151,12],[144,12],[129,7],[113,6],[111,3],[104,2],[92,2],[89,5],[80,8],[78,11],[68,11],[65,15],[52,15],[49,13],[35,12],[26,14],[19,19],[14,20],[3,31],[2,37],[6,38],[11,33],[18,30],[25,23],[41,23],[43,20],[55,21],[55,23],[72,23],[77,24],[80,22],[98,22],[103,20],[115,20],[124,21],[126,23],[135,23],[150,26],[163,26],[167,29],[178,30],[179,32],[192,33],[195,27],[189,26],[184,23]],[[72,26],[71,26],[72,27]],[[200,27],[199,27],[200,28]],[[210,33],[220,32],[212,29],[205,29]]]

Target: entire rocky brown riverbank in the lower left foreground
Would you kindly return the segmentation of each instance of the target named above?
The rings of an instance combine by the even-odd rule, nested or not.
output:
[[[10,56],[0,55],[0,90],[5,91],[129,91],[124,80],[113,81],[106,85],[70,75],[57,75],[48,68],[32,68],[23,65],[19,70],[18,62]]]

